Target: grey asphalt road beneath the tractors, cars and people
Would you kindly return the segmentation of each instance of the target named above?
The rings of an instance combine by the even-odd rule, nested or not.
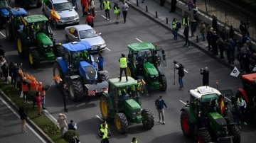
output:
[[[106,21],[104,11],[100,11],[99,2],[96,3],[96,18],[95,29],[102,33],[102,38],[107,42],[109,50],[102,53],[105,57],[105,70],[110,72],[110,77],[117,77],[119,74],[118,59],[122,53],[128,54],[127,44],[132,42],[147,41],[158,43],[166,51],[167,67],[160,67],[164,71],[168,80],[168,88],[164,93],[150,91],[149,97],[143,97],[142,108],[151,108],[154,111],[155,126],[151,130],[143,130],[142,124],[129,126],[128,132],[125,135],[120,135],[114,130],[114,124],[110,122],[110,130],[112,137],[110,142],[130,142],[132,137],[137,137],[139,142],[195,142],[193,139],[188,139],[183,136],[180,127],[180,109],[183,107],[183,102],[186,103],[189,99],[188,90],[196,88],[202,84],[202,76],[199,71],[202,67],[208,67],[210,70],[210,86],[216,87],[215,82],[219,82],[218,88],[231,89],[235,93],[236,89],[242,86],[240,79],[230,76],[231,70],[223,66],[215,59],[210,58],[196,47],[183,47],[184,40],[178,38],[173,40],[171,31],[166,30],[158,23],[146,18],[142,13],[129,8],[127,23],[122,21],[116,25],[114,22],[114,14],[111,13],[111,22]],[[41,8],[35,8],[28,11],[31,14],[41,13]],[[81,8],[79,7],[80,16],[82,16]],[[102,16],[103,15],[103,16]],[[120,15],[122,20],[122,14]],[[80,17],[80,23],[85,23],[85,18]],[[4,30],[0,30],[4,33]],[[58,42],[65,42],[64,30],[54,30],[55,38]],[[6,50],[6,60],[8,62],[23,63],[23,67],[29,73],[36,77],[37,81],[42,81],[43,84],[49,84],[53,81],[53,63],[45,62],[38,69],[32,69],[28,66],[27,59],[18,57],[16,45],[0,35],[0,43]],[[188,71],[183,78],[184,89],[178,91],[178,78],[174,80],[174,59],[178,63],[182,63]],[[175,85],[174,85],[175,81]],[[167,103],[168,109],[165,112],[166,125],[160,125],[157,111],[154,108],[154,101],[157,96],[162,95]],[[100,142],[97,136],[98,125],[101,121],[99,108],[99,97],[87,98],[81,103],[68,102],[68,113],[65,113],[69,120],[73,119],[78,125],[80,140],[82,142]],[[63,101],[60,91],[55,85],[50,87],[46,92],[46,108],[54,118],[58,118],[58,114],[63,112]],[[242,127],[242,142],[255,141],[255,127]]]

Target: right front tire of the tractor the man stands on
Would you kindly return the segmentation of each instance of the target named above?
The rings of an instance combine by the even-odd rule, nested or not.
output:
[[[151,109],[142,110],[142,124],[146,130],[150,130],[154,127],[154,114]]]

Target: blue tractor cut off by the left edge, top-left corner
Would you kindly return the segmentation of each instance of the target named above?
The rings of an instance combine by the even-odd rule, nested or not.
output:
[[[0,0],[0,28],[9,20],[9,6],[6,0]]]

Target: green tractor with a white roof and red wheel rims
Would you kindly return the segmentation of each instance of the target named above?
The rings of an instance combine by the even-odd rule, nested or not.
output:
[[[191,89],[191,99],[181,109],[181,130],[186,137],[196,137],[199,143],[240,143],[238,125],[230,112],[230,100],[209,86]]]

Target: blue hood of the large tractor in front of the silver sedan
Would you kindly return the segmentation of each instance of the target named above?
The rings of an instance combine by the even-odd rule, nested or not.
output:
[[[79,72],[80,75],[82,75],[82,79],[88,81],[89,83],[93,83],[97,79],[97,72],[95,67],[93,67],[92,64],[89,64],[88,62],[79,62]]]

